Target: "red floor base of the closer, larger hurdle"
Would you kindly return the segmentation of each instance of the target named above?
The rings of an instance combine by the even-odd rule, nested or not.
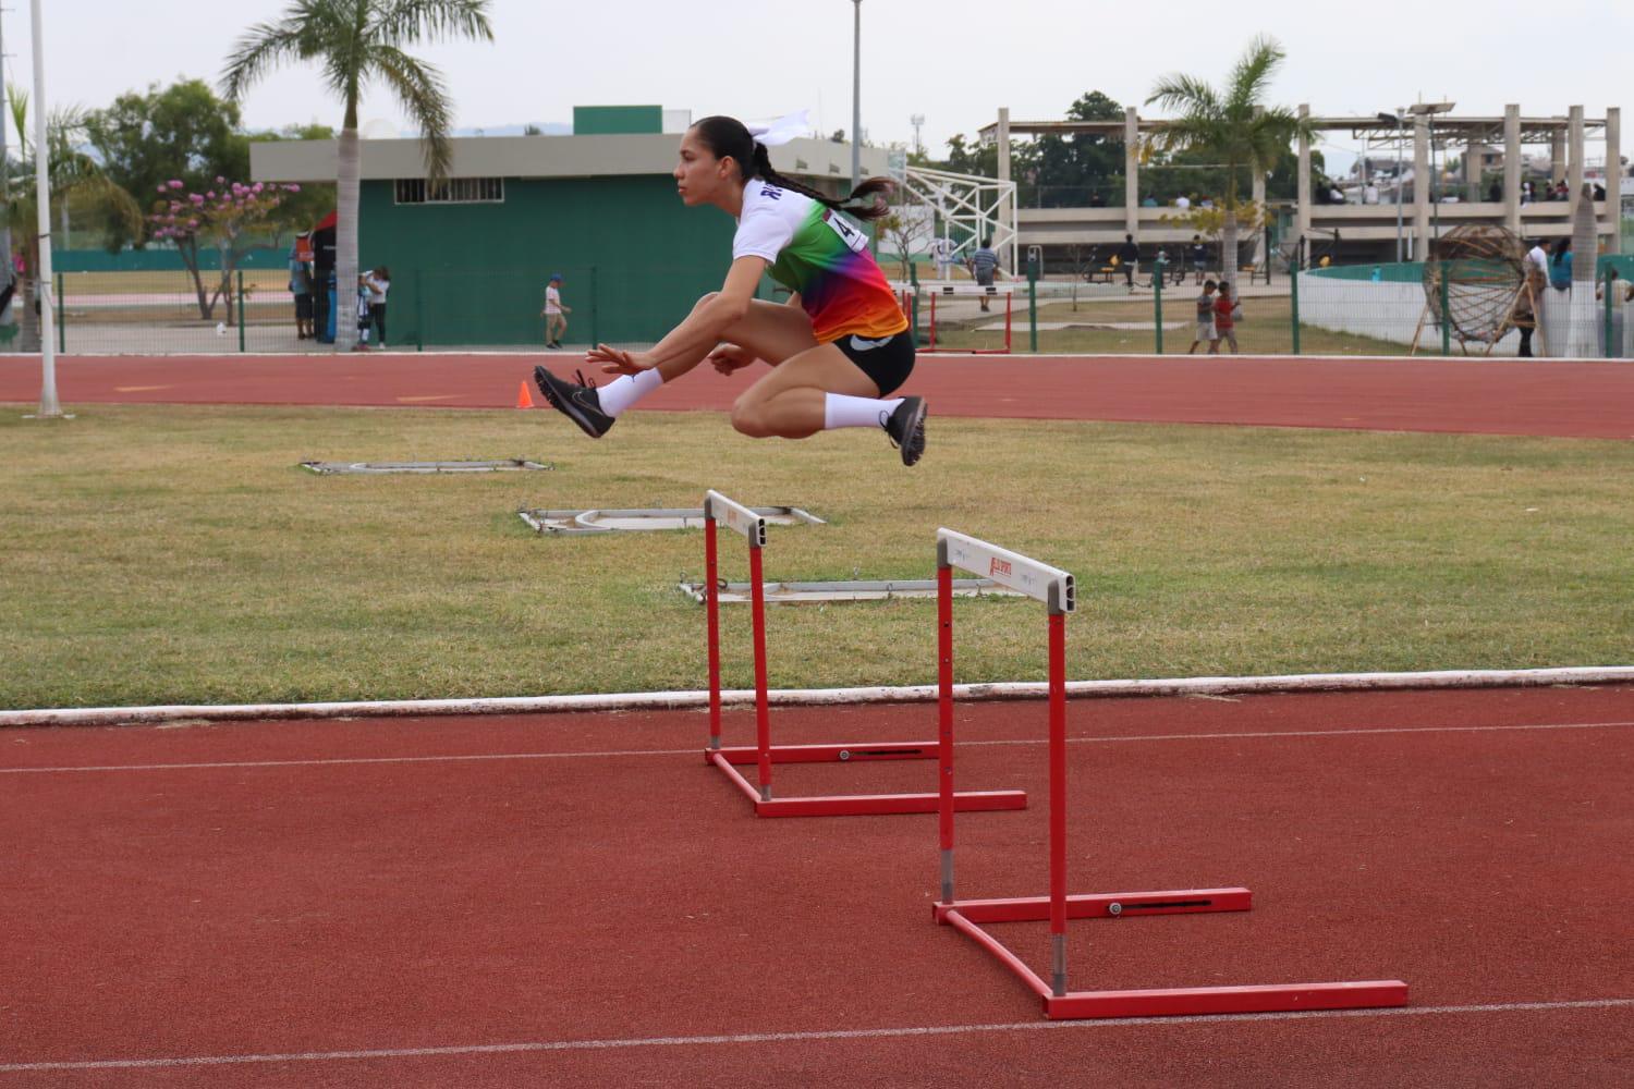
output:
[[[1147,893],[1067,896],[1069,919],[1116,919],[1134,914],[1248,911],[1247,888],[1183,888]],[[1036,971],[980,927],[982,922],[1041,922],[1049,896],[959,900],[931,906],[936,922],[951,926],[995,955],[1038,994],[1051,1020],[1093,1017],[1183,1017],[1199,1014],[1273,1014],[1291,1011],[1379,1009],[1407,1004],[1400,980],[1281,983],[1252,986],[1152,988],[1134,991],[1067,991],[1056,994]]]

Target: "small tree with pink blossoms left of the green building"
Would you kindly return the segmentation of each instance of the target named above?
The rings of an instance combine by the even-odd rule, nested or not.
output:
[[[225,178],[216,178],[216,188],[204,193],[186,191],[180,178],[158,186],[160,199],[147,217],[154,225],[152,237],[176,243],[181,263],[193,274],[201,318],[209,318],[216,304],[230,296],[232,274],[245,253],[276,245],[276,240],[268,243],[257,227],[275,216],[288,194],[299,191],[297,184],[243,184]],[[221,255],[221,281],[214,291],[206,291],[199,273],[201,247],[214,247]],[[227,318],[232,320],[232,307],[227,307]]]

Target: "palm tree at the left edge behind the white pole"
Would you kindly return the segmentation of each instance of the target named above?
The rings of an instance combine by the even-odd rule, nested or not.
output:
[[[39,196],[34,186],[34,140],[28,119],[28,91],[8,85],[7,106],[18,132],[21,155],[7,163],[7,188],[13,194],[5,206],[7,225],[20,242],[28,273],[20,300],[20,351],[39,351],[39,313],[34,312],[39,291]],[[129,193],[101,171],[82,147],[87,142],[85,113],[78,108],[54,109],[46,118],[46,188],[52,207],[82,201],[103,217],[118,220],[132,238],[142,237],[142,209]],[[10,255],[5,256],[10,260]],[[0,269],[8,273],[10,269]],[[3,281],[0,281],[3,282]]]

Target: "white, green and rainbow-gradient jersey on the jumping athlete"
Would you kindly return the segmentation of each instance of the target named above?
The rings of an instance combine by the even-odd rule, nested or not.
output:
[[[750,178],[732,238],[732,260],[745,256],[765,258],[771,279],[799,292],[819,344],[853,333],[884,340],[909,327],[868,235],[820,201]]]

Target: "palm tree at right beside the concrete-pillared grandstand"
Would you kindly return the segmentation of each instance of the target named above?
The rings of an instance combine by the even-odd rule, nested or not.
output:
[[[1237,176],[1243,167],[1271,171],[1276,158],[1299,137],[1314,137],[1310,121],[1284,106],[1266,106],[1271,77],[1288,54],[1271,38],[1255,38],[1216,91],[1191,75],[1165,75],[1145,100],[1178,113],[1159,129],[1150,145],[1160,152],[1203,150],[1226,167],[1226,229],[1221,271],[1237,269]]]

